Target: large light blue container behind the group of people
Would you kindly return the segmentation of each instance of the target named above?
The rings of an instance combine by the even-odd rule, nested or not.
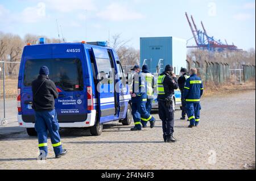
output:
[[[162,73],[165,66],[174,67],[175,74],[187,68],[187,41],[176,37],[141,37],[141,66],[147,64],[151,73]]]

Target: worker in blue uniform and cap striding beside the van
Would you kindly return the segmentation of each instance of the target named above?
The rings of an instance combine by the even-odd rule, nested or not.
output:
[[[155,126],[155,118],[150,115],[146,110],[147,91],[146,79],[141,72],[141,68],[135,65],[133,69],[133,92],[131,94],[132,115],[134,120],[134,128],[131,131],[141,131],[141,120],[150,121],[150,128]]]

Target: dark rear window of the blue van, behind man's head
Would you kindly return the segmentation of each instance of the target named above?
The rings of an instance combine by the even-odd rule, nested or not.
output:
[[[31,86],[32,81],[38,77],[41,66],[48,67],[49,79],[64,91],[83,90],[82,65],[78,58],[27,60],[24,70],[24,86]]]

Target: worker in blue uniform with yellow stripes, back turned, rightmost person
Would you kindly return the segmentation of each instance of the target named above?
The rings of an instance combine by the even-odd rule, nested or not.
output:
[[[190,121],[189,128],[197,127],[200,121],[200,99],[204,92],[203,82],[200,77],[197,77],[197,69],[190,70],[190,77],[187,79],[184,86],[183,99],[186,102],[188,120]]]

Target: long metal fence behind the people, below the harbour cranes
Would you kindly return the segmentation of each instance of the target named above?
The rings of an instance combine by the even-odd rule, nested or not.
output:
[[[205,84],[220,85],[225,82],[242,83],[255,78],[255,66],[243,65],[241,69],[230,69],[230,65],[222,62],[187,61],[187,68],[196,68]]]

